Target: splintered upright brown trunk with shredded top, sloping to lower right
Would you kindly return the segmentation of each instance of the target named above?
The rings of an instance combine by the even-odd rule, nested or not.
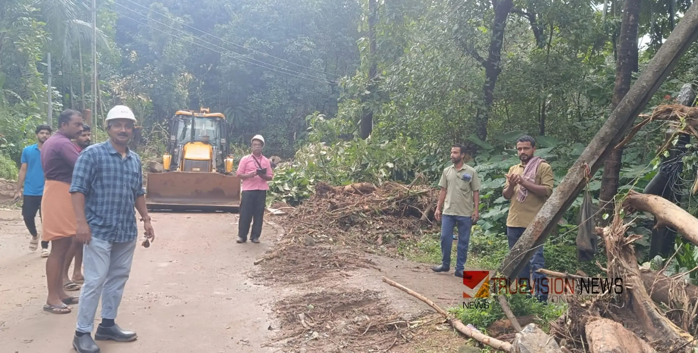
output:
[[[625,307],[629,306],[628,309],[637,317],[650,340],[659,340],[676,352],[689,352],[688,344],[694,338],[662,315],[645,289],[632,246],[641,236],[625,237],[629,226],[623,224],[623,217],[619,208],[616,208],[611,225],[603,229],[597,228],[597,233],[602,234],[606,241],[609,278],[623,279]]]

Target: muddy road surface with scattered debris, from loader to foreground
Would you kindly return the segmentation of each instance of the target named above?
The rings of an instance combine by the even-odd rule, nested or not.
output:
[[[100,342],[103,353],[436,353],[459,352],[465,343],[424,303],[381,280],[396,280],[447,308],[461,296],[452,274],[322,244],[296,244],[255,266],[278,250],[279,217],[267,217],[272,223],[265,224],[262,243],[237,244],[237,215],[152,216],[156,241],[137,248],[117,318],[139,338]],[[77,305],[67,315],[41,310],[45,259],[29,251],[20,210],[0,210],[0,229],[1,351],[74,352]]]

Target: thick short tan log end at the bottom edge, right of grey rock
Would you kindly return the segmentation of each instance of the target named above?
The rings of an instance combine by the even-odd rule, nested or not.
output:
[[[586,323],[591,353],[654,353],[655,350],[622,324],[598,317]]]

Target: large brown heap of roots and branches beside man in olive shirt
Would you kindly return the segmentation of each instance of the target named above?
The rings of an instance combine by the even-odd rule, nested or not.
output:
[[[421,237],[432,228],[437,199],[438,190],[424,185],[332,187],[320,182],[313,197],[290,212],[284,223],[290,224],[290,236],[309,236],[315,243],[394,249],[400,239]]]

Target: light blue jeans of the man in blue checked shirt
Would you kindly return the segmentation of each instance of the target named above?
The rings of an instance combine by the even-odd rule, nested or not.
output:
[[[126,280],[131,274],[133,252],[138,238],[128,243],[112,243],[92,237],[84,245],[85,282],[77,307],[77,331],[91,333],[99,298],[102,297],[102,318],[116,319],[124,294]]]

